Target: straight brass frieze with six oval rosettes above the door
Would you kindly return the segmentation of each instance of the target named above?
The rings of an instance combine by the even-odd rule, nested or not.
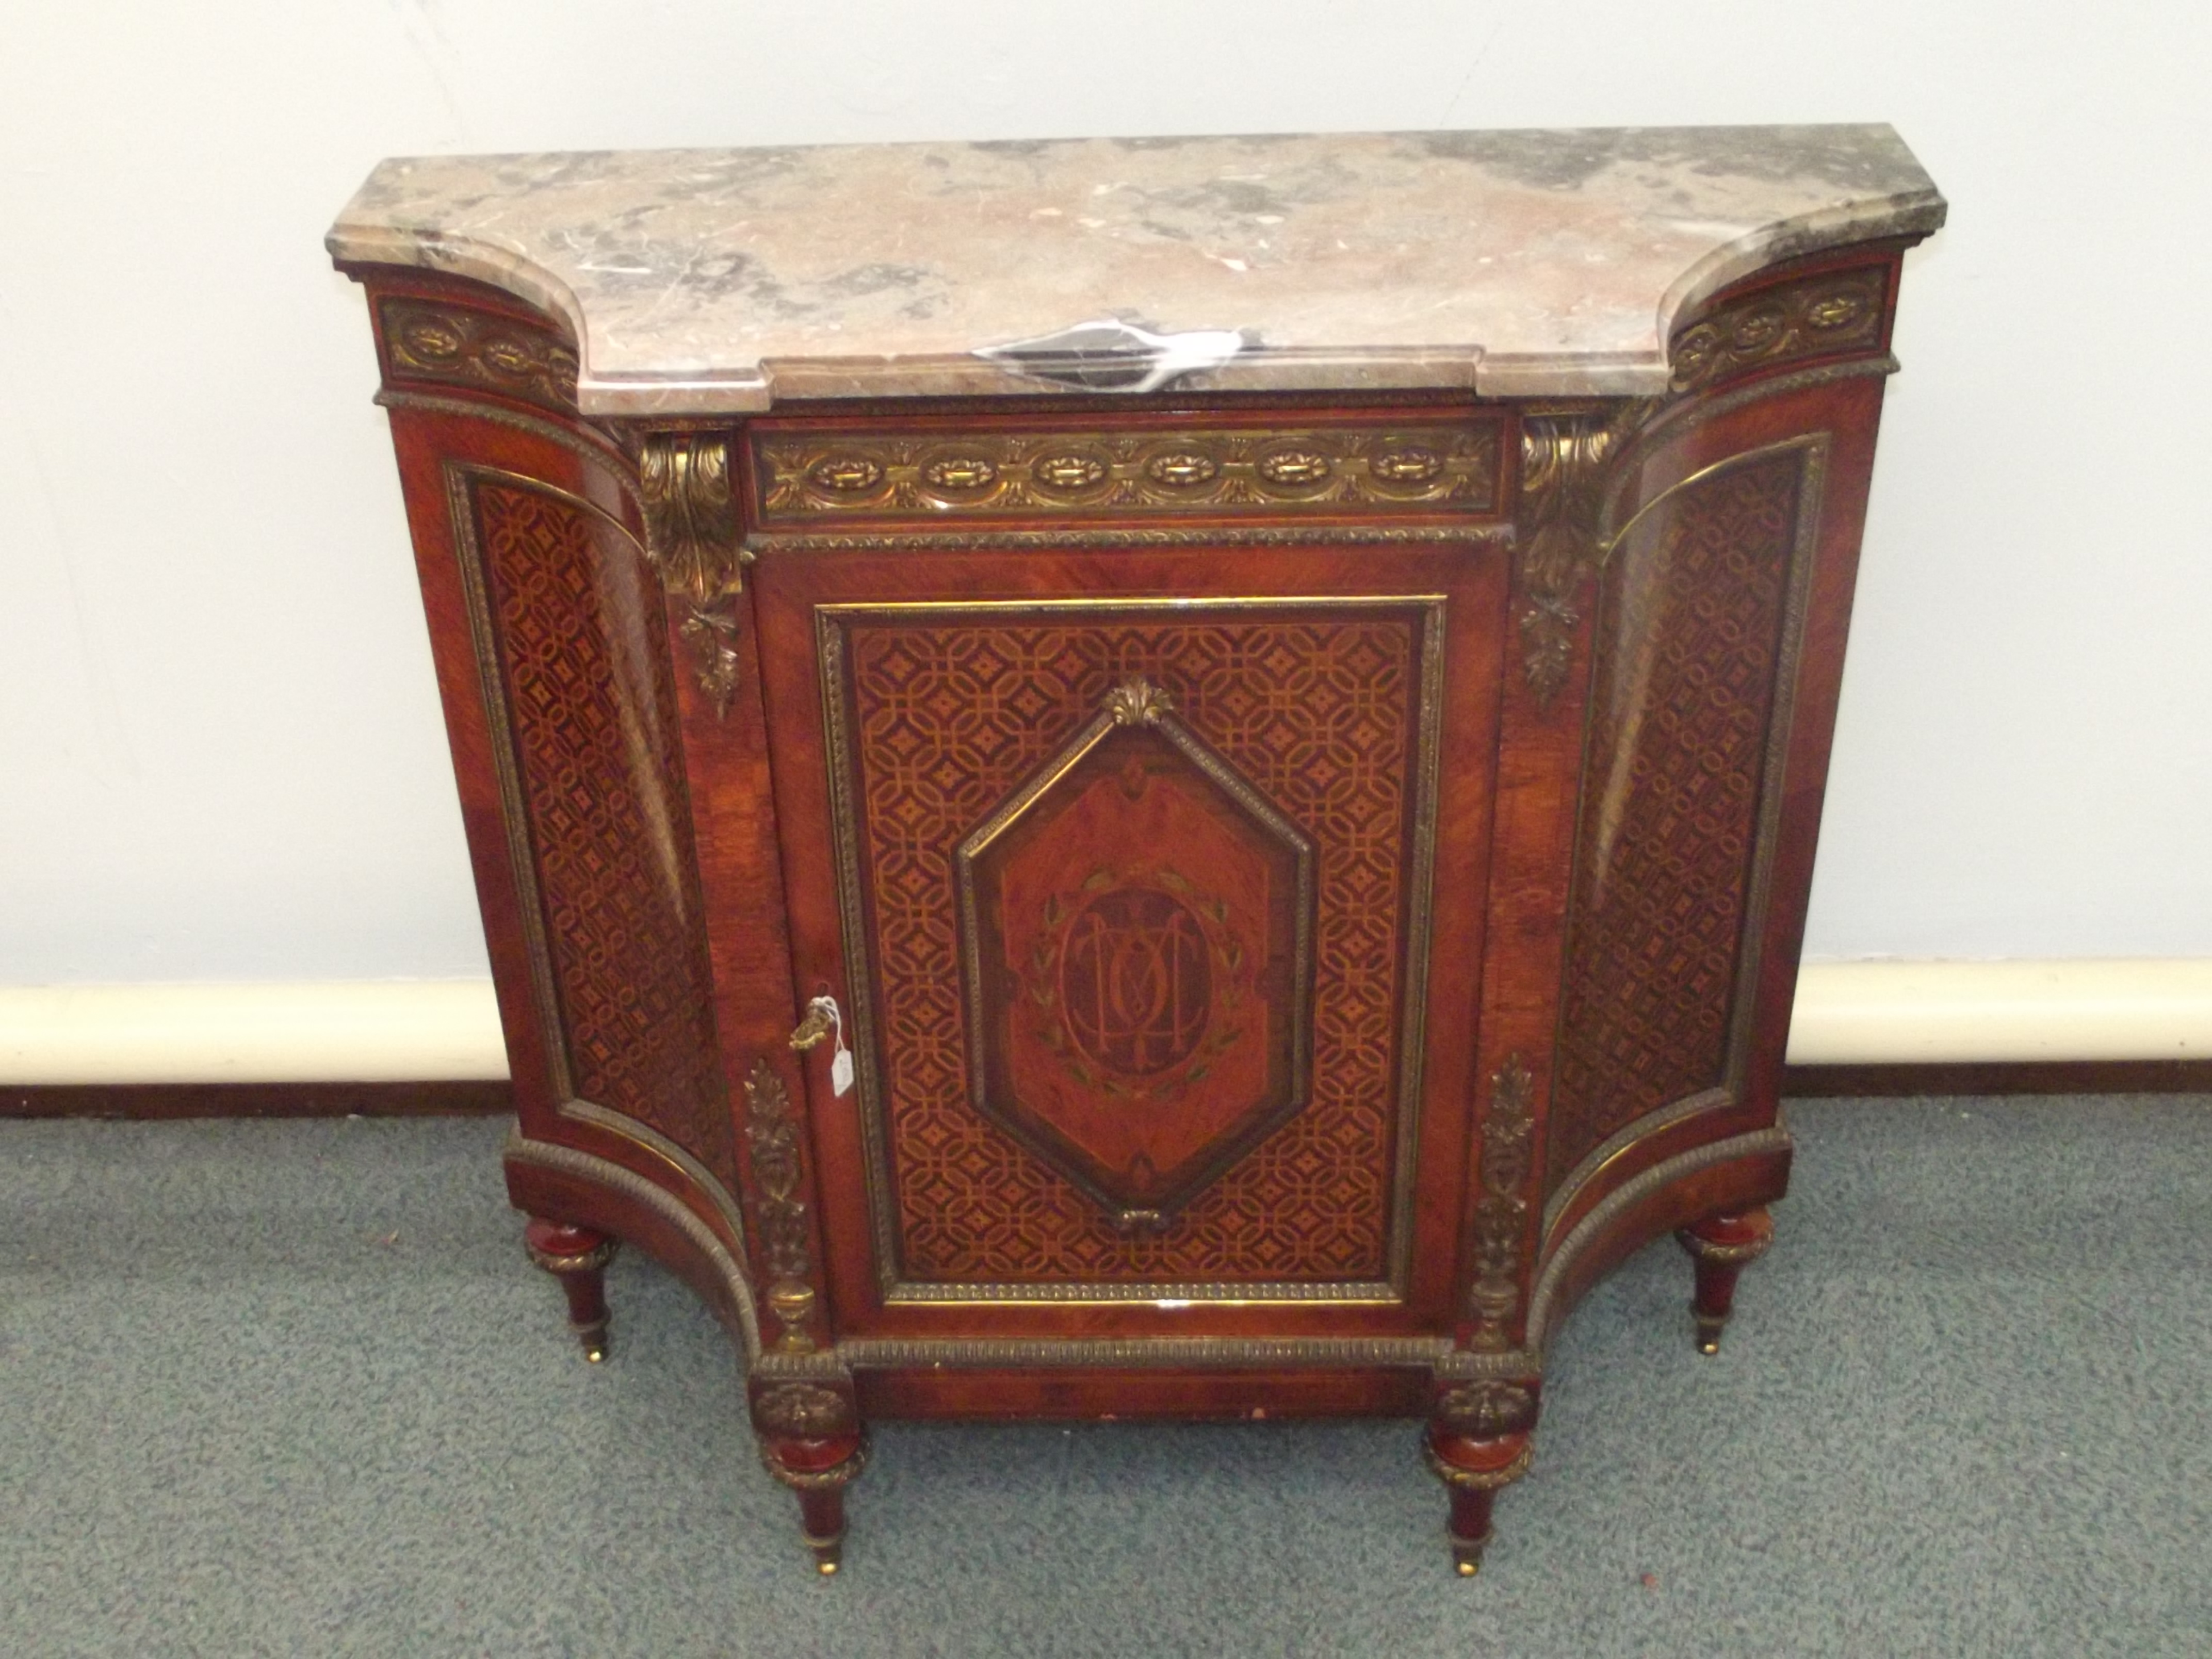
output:
[[[1502,422],[1420,418],[1316,427],[754,422],[763,526],[867,520],[1051,520],[1177,513],[1489,513]]]

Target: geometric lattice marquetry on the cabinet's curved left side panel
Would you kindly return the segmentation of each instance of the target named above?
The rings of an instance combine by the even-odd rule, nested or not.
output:
[[[478,478],[476,513],[575,1091],[734,1188],[659,591],[555,495]]]

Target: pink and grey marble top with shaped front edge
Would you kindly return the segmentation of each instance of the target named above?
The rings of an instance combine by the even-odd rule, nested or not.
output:
[[[584,414],[653,416],[1648,394],[1692,301],[1942,217],[1887,126],[1705,126],[407,157],[327,243],[564,316]]]

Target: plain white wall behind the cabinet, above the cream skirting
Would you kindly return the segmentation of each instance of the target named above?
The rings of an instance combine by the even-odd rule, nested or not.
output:
[[[389,153],[1889,119],[1809,953],[2212,956],[2199,7],[11,0],[0,984],[484,971],[376,369]]]

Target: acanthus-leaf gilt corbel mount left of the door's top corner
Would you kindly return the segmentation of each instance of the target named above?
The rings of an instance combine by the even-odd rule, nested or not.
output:
[[[708,431],[648,434],[637,451],[646,555],[661,586],[684,599],[684,644],[717,714],[737,692],[737,593],[752,555],[730,487],[730,440]]]

